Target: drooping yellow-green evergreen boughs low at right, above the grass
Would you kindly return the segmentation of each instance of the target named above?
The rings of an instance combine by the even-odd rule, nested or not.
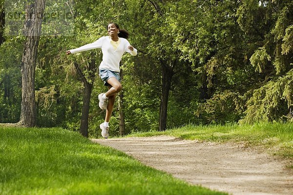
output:
[[[253,91],[241,122],[293,121],[293,70]]]

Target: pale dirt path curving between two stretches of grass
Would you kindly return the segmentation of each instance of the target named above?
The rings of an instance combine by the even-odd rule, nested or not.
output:
[[[94,139],[191,184],[233,195],[293,195],[293,172],[283,161],[241,144],[169,136]]]

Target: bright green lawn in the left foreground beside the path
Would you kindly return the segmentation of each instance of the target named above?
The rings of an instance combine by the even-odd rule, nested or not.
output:
[[[63,129],[0,127],[0,195],[222,195]]]

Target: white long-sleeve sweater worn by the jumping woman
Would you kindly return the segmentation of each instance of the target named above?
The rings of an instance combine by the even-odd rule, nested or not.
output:
[[[114,72],[120,72],[120,61],[125,52],[131,54],[132,56],[137,55],[137,49],[133,49],[133,51],[130,51],[128,49],[128,46],[130,46],[130,43],[127,39],[119,38],[120,43],[117,47],[117,49],[114,48],[114,46],[111,44],[111,38],[109,36],[101,37],[100,39],[96,40],[93,43],[86,44],[84,46],[81,46],[76,49],[71,49],[71,54],[76,54],[79,52],[91,50],[91,49],[97,49],[102,48],[103,53],[103,60],[100,64],[99,69],[100,70],[111,70]]]

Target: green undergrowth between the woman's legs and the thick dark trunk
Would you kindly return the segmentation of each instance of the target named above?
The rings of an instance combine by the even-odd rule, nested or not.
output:
[[[145,67],[134,67],[127,64],[124,71],[124,110],[126,117],[126,131],[156,131],[158,129],[158,115],[160,108],[159,90],[156,80],[147,78],[147,73],[140,77],[137,72],[146,70]],[[155,71],[155,70],[153,70]]]

